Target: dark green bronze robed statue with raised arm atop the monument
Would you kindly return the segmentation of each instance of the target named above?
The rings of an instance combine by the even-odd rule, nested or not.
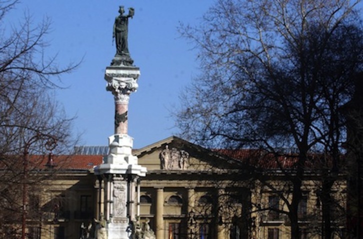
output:
[[[124,16],[123,6],[119,7],[119,16],[116,17],[113,24],[113,38],[116,43],[116,56],[129,55],[127,45],[128,34],[128,18],[132,18],[134,15],[134,9],[128,9],[128,15]]]

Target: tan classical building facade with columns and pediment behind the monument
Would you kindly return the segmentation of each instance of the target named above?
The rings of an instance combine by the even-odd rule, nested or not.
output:
[[[29,197],[29,208],[37,207],[41,213],[38,218],[28,216],[28,238],[95,237],[97,221],[113,200],[104,201],[104,178],[93,172],[106,152],[90,154],[78,152],[63,163],[54,157],[56,173],[43,182],[41,193]],[[254,175],[241,163],[249,152],[227,157],[169,137],[133,150],[133,155],[147,174],[128,203],[142,229],[152,231],[157,239],[290,237],[289,220],[283,213],[290,184],[276,168],[266,166],[263,177]],[[319,188],[316,175],[306,175],[299,204],[300,238],[321,238]],[[342,238],[345,181],[337,181],[333,190],[338,203],[334,238]]]

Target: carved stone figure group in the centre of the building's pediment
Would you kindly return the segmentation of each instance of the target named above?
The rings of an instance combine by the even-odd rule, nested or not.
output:
[[[165,170],[185,170],[189,166],[189,153],[168,145],[160,152],[160,168]]]

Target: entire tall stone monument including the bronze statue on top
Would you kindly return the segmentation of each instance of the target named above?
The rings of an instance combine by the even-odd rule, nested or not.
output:
[[[128,18],[133,17],[134,10],[130,8],[128,15],[124,16],[124,9],[120,6],[118,12],[119,16],[113,25],[116,54],[111,65],[106,67],[104,75],[106,90],[114,98],[114,134],[108,137],[108,155],[103,158],[102,164],[94,168],[99,178],[100,191],[102,190],[99,193],[100,206],[97,214],[104,215],[108,239],[126,239],[132,236],[136,217],[135,187],[139,191],[139,177],[146,174],[146,168],[138,165],[137,157],[131,154],[133,138],[127,134],[129,96],[137,90],[137,79],[140,76],[139,68],[132,65],[127,44]]]

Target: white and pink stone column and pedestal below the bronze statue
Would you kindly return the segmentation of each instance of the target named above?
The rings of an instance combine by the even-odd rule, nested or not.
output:
[[[106,90],[114,97],[114,134],[108,137],[109,153],[94,172],[104,180],[104,219],[108,239],[126,239],[133,233],[135,209],[133,193],[138,177],[145,176],[146,168],[132,155],[133,139],[127,134],[129,96],[137,90],[140,71],[134,66],[106,67]],[[99,218],[101,221],[103,218]]]

